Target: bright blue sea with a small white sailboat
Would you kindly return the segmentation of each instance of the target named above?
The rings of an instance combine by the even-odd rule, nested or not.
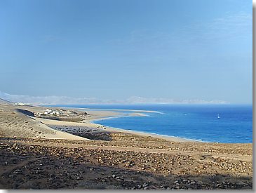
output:
[[[118,117],[97,124],[204,142],[252,142],[251,105],[56,105],[154,111],[147,117]],[[123,111],[124,114],[128,113]],[[218,116],[220,118],[218,118]]]

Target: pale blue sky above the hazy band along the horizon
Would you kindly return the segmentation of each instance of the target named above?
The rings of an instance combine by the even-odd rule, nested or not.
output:
[[[0,91],[252,102],[252,1],[0,1]]]

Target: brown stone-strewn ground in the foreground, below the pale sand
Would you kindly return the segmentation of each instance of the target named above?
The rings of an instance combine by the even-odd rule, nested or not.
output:
[[[252,145],[1,138],[1,189],[252,189]]]

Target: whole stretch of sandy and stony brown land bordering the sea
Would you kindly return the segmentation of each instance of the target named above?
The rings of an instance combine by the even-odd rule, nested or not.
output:
[[[1,189],[252,189],[252,144],[94,124],[118,111],[0,105]],[[34,114],[40,114],[39,116]],[[131,112],[130,116],[143,116]]]

